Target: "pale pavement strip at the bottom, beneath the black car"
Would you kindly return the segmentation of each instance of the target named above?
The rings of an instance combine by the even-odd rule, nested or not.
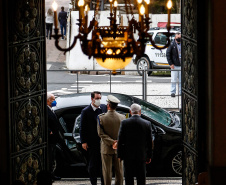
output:
[[[90,185],[89,179],[62,179],[61,181],[56,181],[53,185],[70,185],[70,184],[77,184],[77,185]],[[100,185],[100,180],[98,180],[98,185]],[[125,184],[125,181],[124,183]],[[146,185],[182,185],[182,178],[180,177],[147,177]],[[114,185],[114,179],[112,181],[112,185]],[[135,183],[136,185],[136,183]]]

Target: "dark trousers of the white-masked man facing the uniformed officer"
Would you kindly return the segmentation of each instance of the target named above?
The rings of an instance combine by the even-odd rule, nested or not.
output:
[[[97,177],[101,177],[101,184],[104,185],[103,175],[102,175],[102,163],[101,163],[101,154],[100,146],[89,146],[89,176],[90,182],[92,185],[97,184]]]

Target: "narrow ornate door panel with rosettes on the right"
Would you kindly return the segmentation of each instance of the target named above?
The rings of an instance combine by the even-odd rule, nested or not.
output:
[[[197,182],[198,78],[196,0],[182,1],[183,185]]]

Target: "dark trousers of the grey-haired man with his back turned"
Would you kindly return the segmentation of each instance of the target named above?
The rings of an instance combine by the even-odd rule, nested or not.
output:
[[[126,185],[134,185],[134,177],[137,185],[146,184],[146,164],[142,160],[124,160],[124,175]]]

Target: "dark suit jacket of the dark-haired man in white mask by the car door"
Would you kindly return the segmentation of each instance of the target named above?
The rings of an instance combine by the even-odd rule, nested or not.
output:
[[[97,116],[107,112],[107,106],[100,105],[100,110],[93,111],[91,105],[85,107],[81,112],[80,139],[81,143],[87,143],[89,147],[100,145],[97,134]]]

